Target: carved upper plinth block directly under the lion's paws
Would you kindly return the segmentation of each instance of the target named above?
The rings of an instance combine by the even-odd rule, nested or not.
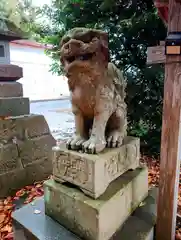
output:
[[[105,149],[97,155],[66,149],[65,144],[53,148],[53,177],[70,182],[96,199],[108,185],[129,169],[139,166],[140,140],[125,138],[120,148]]]

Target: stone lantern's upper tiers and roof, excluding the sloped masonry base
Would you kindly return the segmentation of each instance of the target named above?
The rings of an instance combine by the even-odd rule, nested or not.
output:
[[[0,117],[29,114],[29,99],[16,82],[23,77],[21,67],[10,63],[10,42],[23,39],[22,32],[8,20],[0,18]]]

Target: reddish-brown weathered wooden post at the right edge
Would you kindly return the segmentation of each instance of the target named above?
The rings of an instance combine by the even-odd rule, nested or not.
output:
[[[169,0],[168,31],[181,31],[181,4],[175,0]],[[180,173],[180,107],[181,57],[166,56],[157,240],[175,239]]]

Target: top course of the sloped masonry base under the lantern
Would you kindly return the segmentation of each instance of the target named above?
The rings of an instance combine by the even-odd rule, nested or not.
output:
[[[27,140],[50,134],[49,126],[43,115],[24,115],[0,121],[0,143],[12,139]]]

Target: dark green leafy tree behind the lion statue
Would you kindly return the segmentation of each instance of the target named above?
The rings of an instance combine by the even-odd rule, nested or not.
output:
[[[54,0],[44,14],[51,19],[48,52],[59,69],[59,40],[73,27],[101,28],[109,33],[110,58],[128,80],[129,134],[141,137],[143,150],[159,153],[163,95],[163,66],[147,66],[148,46],[165,39],[166,29],[150,0]]]

